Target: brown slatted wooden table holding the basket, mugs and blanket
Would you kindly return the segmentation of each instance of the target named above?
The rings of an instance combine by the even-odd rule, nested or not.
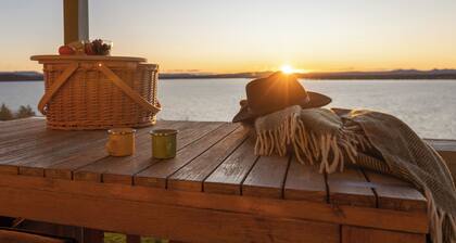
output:
[[[425,242],[427,202],[363,170],[321,175],[293,157],[258,157],[238,124],[159,122],[177,157],[110,157],[105,131],[0,123],[0,215],[186,242]]]

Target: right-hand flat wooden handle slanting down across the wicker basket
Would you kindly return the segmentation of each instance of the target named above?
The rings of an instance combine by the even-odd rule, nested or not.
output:
[[[103,73],[109,79],[111,79],[115,86],[117,86],[125,94],[127,94],[131,100],[137,104],[141,105],[143,108],[152,112],[154,114],[162,111],[162,107],[159,105],[153,105],[147,102],[141,95],[139,95],[135,90],[132,90],[128,85],[126,85],[114,72],[106,67],[103,63],[98,63],[97,68]]]

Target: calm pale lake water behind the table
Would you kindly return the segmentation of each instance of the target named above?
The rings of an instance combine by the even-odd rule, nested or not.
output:
[[[230,120],[249,79],[162,79],[161,119]],[[393,114],[426,138],[456,139],[456,80],[302,80],[332,98],[330,107]],[[0,103],[36,108],[42,81],[0,82]]]

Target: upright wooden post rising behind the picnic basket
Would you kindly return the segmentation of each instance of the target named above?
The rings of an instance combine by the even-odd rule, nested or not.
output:
[[[63,0],[64,42],[89,38],[88,0]]]

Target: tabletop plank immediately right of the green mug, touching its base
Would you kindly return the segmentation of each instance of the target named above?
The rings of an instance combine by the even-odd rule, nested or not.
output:
[[[135,176],[135,184],[166,188],[166,179],[219,140],[236,130],[239,124],[224,124],[204,138],[193,142],[170,159],[160,161]]]

